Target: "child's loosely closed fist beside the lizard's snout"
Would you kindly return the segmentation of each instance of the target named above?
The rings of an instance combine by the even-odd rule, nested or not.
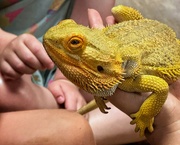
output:
[[[17,79],[36,70],[54,66],[42,44],[30,34],[22,34],[9,42],[0,55],[0,70],[4,79]]]

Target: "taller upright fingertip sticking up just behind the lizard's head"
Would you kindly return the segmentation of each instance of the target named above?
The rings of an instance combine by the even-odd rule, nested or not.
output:
[[[88,9],[89,26],[92,28],[103,28],[103,20],[98,11]]]

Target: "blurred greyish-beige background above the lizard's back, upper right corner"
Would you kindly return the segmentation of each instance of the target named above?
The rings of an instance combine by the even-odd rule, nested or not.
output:
[[[180,0],[116,0],[116,5],[133,7],[150,19],[170,26],[180,39]]]

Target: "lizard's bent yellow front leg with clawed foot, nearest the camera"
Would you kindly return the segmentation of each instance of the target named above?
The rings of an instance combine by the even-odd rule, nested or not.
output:
[[[133,119],[131,124],[136,124],[135,131],[140,131],[140,136],[144,136],[146,128],[152,132],[154,117],[160,112],[167,98],[167,82],[156,76],[141,75],[135,79],[126,79],[119,87],[128,92],[151,92],[139,111],[130,117]]]

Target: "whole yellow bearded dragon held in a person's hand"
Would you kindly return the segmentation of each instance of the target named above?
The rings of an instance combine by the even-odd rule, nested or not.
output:
[[[137,10],[116,6],[117,24],[103,29],[63,20],[44,35],[44,47],[62,73],[94,95],[104,113],[104,98],[116,88],[127,92],[150,92],[139,111],[130,115],[135,131],[154,130],[154,117],[168,94],[168,84],[180,76],[180,41],[174,31]],[[84,114],[94,106],[87,104]]]

